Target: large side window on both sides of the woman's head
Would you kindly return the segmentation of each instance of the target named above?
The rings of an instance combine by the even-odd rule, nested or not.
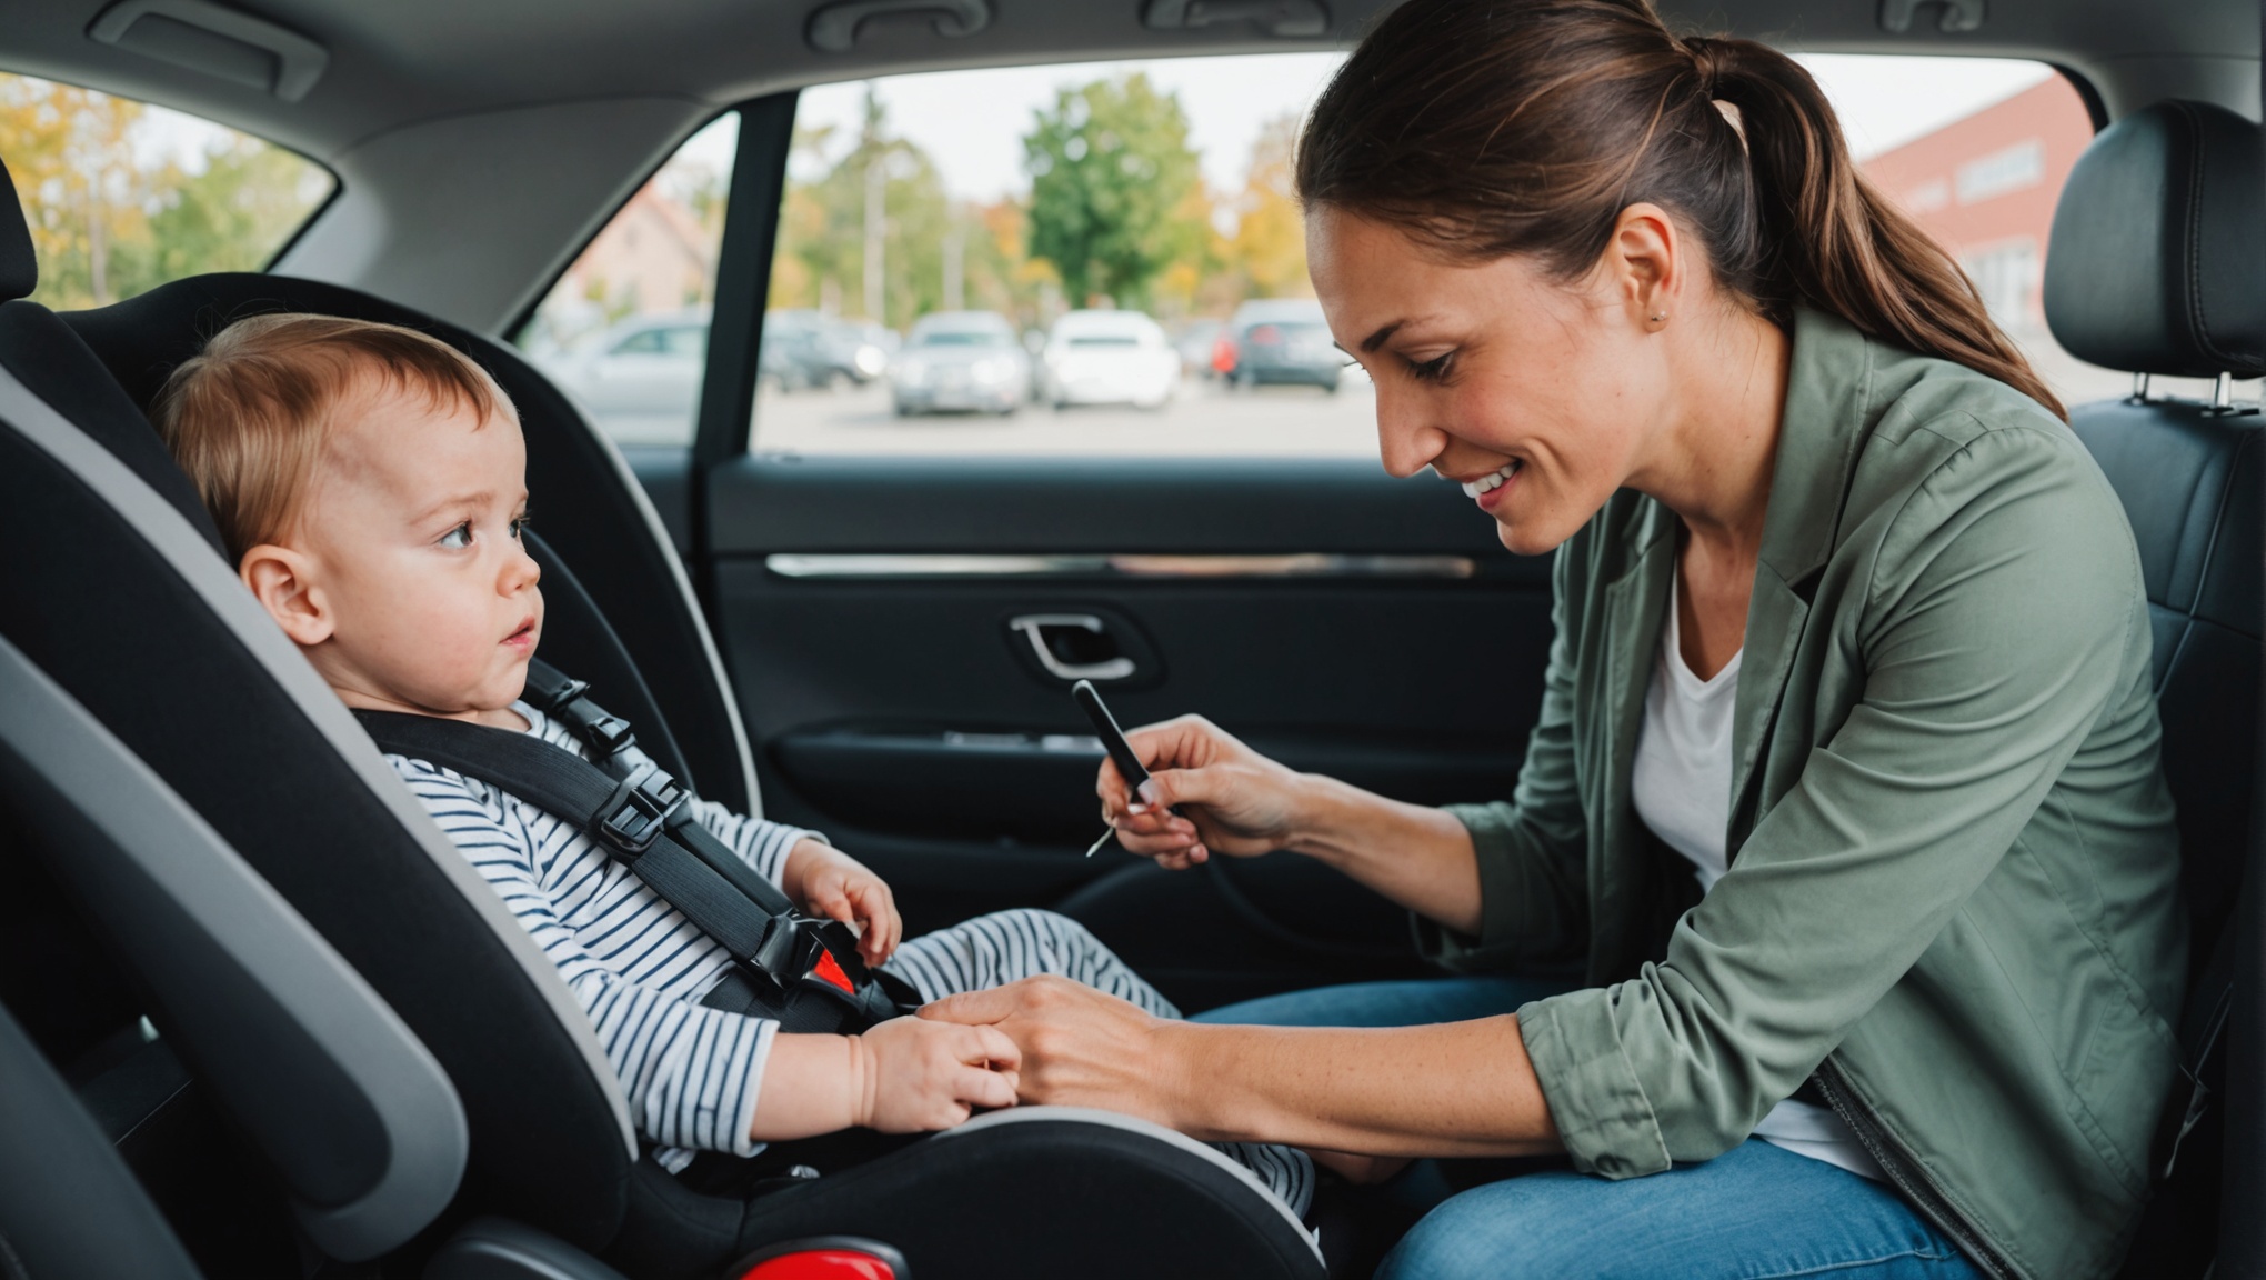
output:
[[[2126,394],[2130,376],[2064,353],[2039,306],[2053,204],[2092,140],[2078,91],[2033,61],[1801,61],[1865,172],[1958,258],[2048,385],[2069,403]],[[872,374],[766,349],[752,446],[1375,455],[1373,394],[1312,299],[1292,193],[1298,125],[1337,63],[1162,59],[807,88],[770,306],[911,338]],[[934,319],[968,313],[1017,340],[965,367],[931,358],[979,342]],[[1144,342],[1151,324],[1169,338]]]

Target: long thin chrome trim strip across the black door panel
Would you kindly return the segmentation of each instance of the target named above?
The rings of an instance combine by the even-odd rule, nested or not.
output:
[[[780,578],[1473,578],[1468,555],[809,555],[773,553]]]

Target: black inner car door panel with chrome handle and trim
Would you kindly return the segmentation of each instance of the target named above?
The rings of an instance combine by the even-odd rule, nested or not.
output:
[[[1013,623],[1101,621],[1135,659],[1101,682],[1124,725],[1203,714],[1400,800],[1500,797],[1548,560],[1505,553],[1450,485],[1364,460],[761,455],[707,483],[766,807],[868,859],[909,929],[1067,908],[1192,1008],[1421,972],[1407,915],[1307,859],[1079,856],[1101,752]]]

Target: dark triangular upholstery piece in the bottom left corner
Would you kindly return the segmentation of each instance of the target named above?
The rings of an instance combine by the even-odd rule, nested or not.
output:
[[[0,1275],[197,1280],[109,1137],[0,1008]]]

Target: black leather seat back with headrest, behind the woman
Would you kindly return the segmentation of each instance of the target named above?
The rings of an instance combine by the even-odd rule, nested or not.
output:
[[[2266,374],[2259,147],[2259,127],[2218,106],[2159,102],[2126,116],[2069,174],[2046,256],[2053,335],[2080,360],[2137,374],[2130,399],[2078,406],[2069,426],[2107,473],[2139,546],[2191,922],[2180,1033],[2203,1087],[2175,1090],[2159,1158],[2178,1158],[2128,1275],[2203,1275],[2221,1248],[2223,1158],[2234,1167],[2266,1158],[2225,1144],[2227,1108],[2203,1110],[2227,1087],[2218,1047],[2234,1008],[2230,981],[2241,947],[2257,947],[2234,913],[2243,886],[2257,890],[2266,469],[2257,408],[2225,392],[2230,378]],[[2150,399],[2148,376],[2218,378],[2221,394]],[[2257,1094],[2259,1081],[2234,1087]]]

